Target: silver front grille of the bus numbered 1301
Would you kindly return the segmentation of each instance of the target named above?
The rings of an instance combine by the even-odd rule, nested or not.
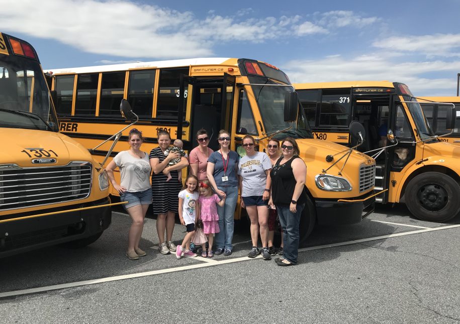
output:
[[[84,199],[91,190],[92,169],[89,162],[33,168],[0,165],[0,211]]]

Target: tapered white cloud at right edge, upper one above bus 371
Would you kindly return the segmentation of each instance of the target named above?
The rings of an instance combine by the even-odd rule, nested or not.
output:
[[[416,52],[431,57],[458,57],[460,34],[389,37],[372,43],[374,47],[400,52]]]

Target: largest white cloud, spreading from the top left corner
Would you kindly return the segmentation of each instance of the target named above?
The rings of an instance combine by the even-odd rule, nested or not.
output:
[[[55,40],[84,52],[133,58],[185,58],[213,55],[217,43],[261,43],[327,33],[299,15],[279,18],[234,16],[210,10],[203,20],[129,0],[4,0],[0,29]],[[27,10],[24,10],[27,8]],[[246,18],[244,18],[245,16]]]

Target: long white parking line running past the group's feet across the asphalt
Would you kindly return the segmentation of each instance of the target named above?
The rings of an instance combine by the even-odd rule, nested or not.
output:
[[[405,236],[405,235],[411,235],[411,234],[419,234],[419,233],[447,230],[447,229],[453,229],[453,228],[458,228],[458,227],[460,227],[460,224],[458,224],[458,225],[450,225],[450,226],[442,226],[442,227],[437,227],[437,228],[429,228],[429,229],[423,229],[423,230],[418,230],[418,231],[411,231],[411,232],[404,232],[404,233],[376,236],[376,237],[360,239],[360,240],[352,240],[352,241],[347,241],[347,242],[340,242],[340,243],[334,243],[334,244],[326,244],[326,245],[319,245],[319,246],[314,246],[314,247],[303,248],[303,249],[299,249],[299,252],[319,250],[319,249],[327,249],[327,248],[332,248],[332,247],[337,247],[337,246],[351,245],[351,244],[356,244],[356,243],[361,243],[361,242],[369,242],[369,241],[376,241],[376,240],[383,240],[383,239],[394,238],[394,237]],[[258,259],[258,258],[260,258],[260,256],[258,256],[257,258],[254,258],[254,259]],[[78,286],[85,286],[85,285],[93,285],[93,284],[97,284],[97,283],[110,282],[110,281],[118,281],[118,280],[132,279],[132,278],[140,278],[140,277],[146,277],[146,276],[159,275],[159,274],[163,274],[163,273],[170,273],[170,272],[177,272],[177,271],[184,271],[184,270],[191,270],[191,269],[198,269],[198,268],[206,268],[206,267],[211,267],[211,266],[216,266],[216,265],[221,265],[221,264],[229,264],[229,263],[253,260],[253,259],[250,259],[248,257],[224,259],[224,260],[219,260],[219,261],[218,260],[210,260],[208,258],[205,259],[205,258],[201,258],[201,257],[197,257],[197,259],[199,259],[199,260],[203,259],[202,261],[206,261],[206,262],[200,263],[200,264],[183,266],[183,267],[175,267],[175,268],[160,269],[160,270],[154,270],[154,271],[146,271],[146,272],[133,273],[133,274],[127,274],[127,275],[121,275],[121,276],[114,276],[114,277],[107,277],[107,278],[101,278],[101,279],[84,280],[84,281],[70,282],[70,283],[64,283],[64,284],[52,285],[52,286],[46,286],[46,287],[38,287],[38,288],[15,290],[15,291],[7,291],[7,292],[0,293],[0,298],[9,297],[9,296],[18,296],[18,295],[24,295],[24,294],[31,294],[31,293],[37,293],[37,292],[44,292],[44,291],[49,291],[49,290],[63,289],[63,288],[71,288],[71,287],[78,287]]]

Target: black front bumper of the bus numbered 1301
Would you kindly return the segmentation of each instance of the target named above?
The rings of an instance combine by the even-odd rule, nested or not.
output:
[[[109,197],[77,206],[105,204],[110,204]],[[71,207],[77,208],[75,205]],[[26,215],[15,214],[15,218],[22,216]],[[111,222],[111,207],[104,206],[0,223],[0,258],[97,235],[106,230]]]

